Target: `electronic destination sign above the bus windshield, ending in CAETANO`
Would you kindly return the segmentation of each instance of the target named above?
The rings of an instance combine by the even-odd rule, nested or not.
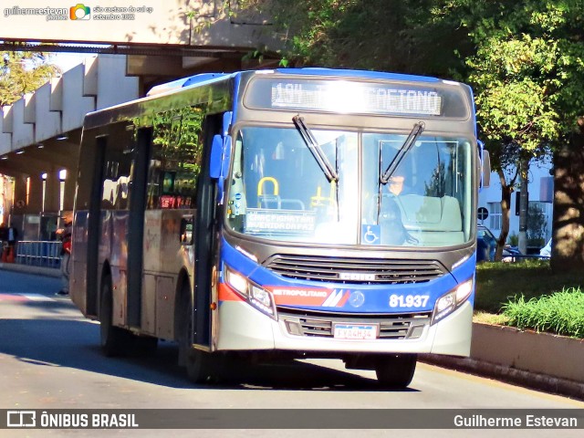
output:
[[[419,115],[466,118],[464,93],[457,86],[357,82],[346,79],[257,78],[245,106],[255,109],[315,110],[349,114]]]

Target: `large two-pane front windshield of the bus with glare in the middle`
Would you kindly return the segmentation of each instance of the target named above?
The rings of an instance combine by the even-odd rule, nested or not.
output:
[[[407,134],[310,133],[336,179],[329,180],[293,126],[238,131],[226,208],[234,231],[308,244],[470,242],[472,141],[424,132],[384,175]]]

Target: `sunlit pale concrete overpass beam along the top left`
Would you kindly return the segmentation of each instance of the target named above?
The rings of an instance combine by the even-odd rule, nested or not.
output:
[[[7,6],[13,6],[13,4]],[[21,8],[46,6],[39,0],[14,2]],[[0,39],[16,41],[69,41],[82,43],[151,44],[183,46],[244,47],[252,50],[267,45],[272,50],[281,47],[280,39],[269,26],[268,18],[257,12],[238,9],[237,2],[217,0],[149,0],[148,2],[118,2],[102,0],[89,3],[89,16],[75,21],[68,19],[69,7],[75,3],[55,0],[52,8],[62,8],[67,14],[52,15],[61,19],[47,20],[44,14],[12,15],[3,17]],[[117,6],[133,10],[110,14],[98,6]],[[147,6],[143,10],[141,6]],[[126,14],[131,14],[127,16]],[[109,19],[95,19],[96,16]],[[128,19],[130,18],[130,19]],[[265,32],[258,32],[265,28]],[[254,36],[257,34],[257,36]]]

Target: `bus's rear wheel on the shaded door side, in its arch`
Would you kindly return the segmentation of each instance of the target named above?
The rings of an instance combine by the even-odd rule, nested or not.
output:
[[[99,338],[101,350],[107,357],[122,356],[130,347],[131,334],[123,328],[113,326],[113,305],[111,277],[106,276],[101,283],[99,301]]]

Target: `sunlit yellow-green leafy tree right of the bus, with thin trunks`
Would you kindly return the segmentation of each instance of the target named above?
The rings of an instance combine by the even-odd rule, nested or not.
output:
[[[481,136],[495,156],[503,187],[498,255],[508,233],[507,200],[517,181],[510,169],[527,181],[529,162],[569,142],[584,108],[582,5],[581,0],[459,4],[477,47],[467,66]],[[521,187],[520,246],[527,237],[527,184]]]

